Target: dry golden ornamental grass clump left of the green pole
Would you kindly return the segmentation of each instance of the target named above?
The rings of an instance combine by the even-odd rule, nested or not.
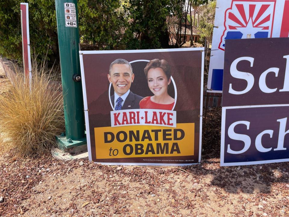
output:
[[[34,64],[31,88],[15,66],[11,87],[0,95],[0,149],[14,156],[47,153],[64,131],[63,98],[51,71]],[[2,146],[2,147],[1,147]]]

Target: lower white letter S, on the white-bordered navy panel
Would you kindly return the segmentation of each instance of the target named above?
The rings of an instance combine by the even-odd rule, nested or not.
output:
[[[241,140],[245,143],[244,148],[241,151],[234,151],[230,148],[230,145],[228,144],[227,152],[230,154],[241,154],[245,151],[247,151],[251,145],[251,139],[249,136],[244,134],[237,134],[234,131],[234,128],[238,124],[245,124],[247,126],[247,130],[249,130],[250,122],[249,121],[237,121],[230,125],[228,129],[228,136],[233,140]]]

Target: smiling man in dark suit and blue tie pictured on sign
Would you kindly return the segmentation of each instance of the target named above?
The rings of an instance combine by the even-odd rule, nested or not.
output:
[[[114,88],[114,94],[110,96],[114,110],[139,108],[139,102],[143,97],[129,90],[134,77],[132,66],[125,59],[116,59],[110,64],[107,78]]]

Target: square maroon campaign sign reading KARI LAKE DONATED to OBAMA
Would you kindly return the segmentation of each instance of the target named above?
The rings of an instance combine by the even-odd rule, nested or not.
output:
[[[200,162],[204,48],[79,51],[89,160]]]

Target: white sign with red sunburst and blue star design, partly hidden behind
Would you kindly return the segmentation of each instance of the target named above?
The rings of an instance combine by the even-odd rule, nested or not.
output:
[[[289,0],[217,0],[214,26],[207,88],[222,93],[225,40],[288,37]]]

